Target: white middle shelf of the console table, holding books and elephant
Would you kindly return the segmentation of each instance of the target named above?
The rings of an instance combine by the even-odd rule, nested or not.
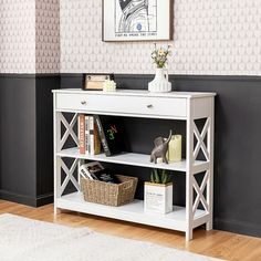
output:
[[[179,163],[171,163],[171,164],[154,164],[149,161],[149,155],[146,154],[122,153],[115,156],[106,157],[105,154],[98,154],[98,155],[80,154],[79,148],[75,147],[75,148],[62,149],[61,152],[56,153],[56,156],[130,165],[146,168],[168,169],[182,173],[187,171],[186,159],[182,159]],[[208,167],[209,167],[209,161],[195,160],[194,173],[205,171]]]

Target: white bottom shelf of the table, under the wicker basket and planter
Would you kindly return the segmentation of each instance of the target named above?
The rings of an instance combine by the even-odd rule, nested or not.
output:
[[[74,192],[56,199],[56,207],[84,213],[143,223],[159,228],[186,231],[186,208],[174,206],[174,211],[167,215],[147,213],[144,211],[144,201],[134,200],[122,207],[108,207],[84,201],[81,192]],[[195,218],[205,222],[208,213],[198,209]],[[194,226],[194,227],[197,227]]]

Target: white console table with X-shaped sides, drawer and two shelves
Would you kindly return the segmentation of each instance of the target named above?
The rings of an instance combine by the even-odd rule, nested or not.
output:
[[[215,93],[152,94],[147,91],[124,90],[116,93],[56,90],[53,94],[55,213],[60,209],[67,209],[179,230],[186,232],[186,240],[192,239],[194,228],[203,223],[207,230],[212,229]],[[67,121],[64,113],[71,113],[72,119]],[[149,155],[143,154],[126,153],[112,157],[106,157],[104,154],[81,155],[77,147],[79,138],[74,132],[80,113],[186,121],[186,159],[175,164],[155,165],[149,163]],[[195,122],[200,118],[206,119],[201,132]],[[65,128],[64,134],[61,132],[62,125]],[[70,136],[75,146],[64,149]],[[200,149],[206,160],[198,160]],[[71,167],[65,165],[64,158],[72,159]],[[135,200],[122,207],[86,202],[80,191],[79,176],[73,175],[84,159],[180,171],[180,175],[186,175],[186,207],[174,206],[174,211],[170,213],[152,215],[144,212],[142,200]],[[64,180],[62,180],[62,170],[66,175]],[[196,175],[200,173],[205,175],[201,184],[198,184]],[[70,180],[76,188],[76,192],[64,195]],[[195,192],[196,197],[194,197]],[[199,208],[200,202],[202,208]]]

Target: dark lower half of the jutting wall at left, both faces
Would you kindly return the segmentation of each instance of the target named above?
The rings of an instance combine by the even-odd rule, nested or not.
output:
[[[51,90],[60,75],[0,75],[0,198],[53,201]]]

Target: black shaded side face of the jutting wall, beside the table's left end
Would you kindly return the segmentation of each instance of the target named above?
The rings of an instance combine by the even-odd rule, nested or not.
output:
[[[53,95],[60,75],[36,75],[36,195],[38,205],[53,200]],[[44,199],[44,200],[43,200]]]

